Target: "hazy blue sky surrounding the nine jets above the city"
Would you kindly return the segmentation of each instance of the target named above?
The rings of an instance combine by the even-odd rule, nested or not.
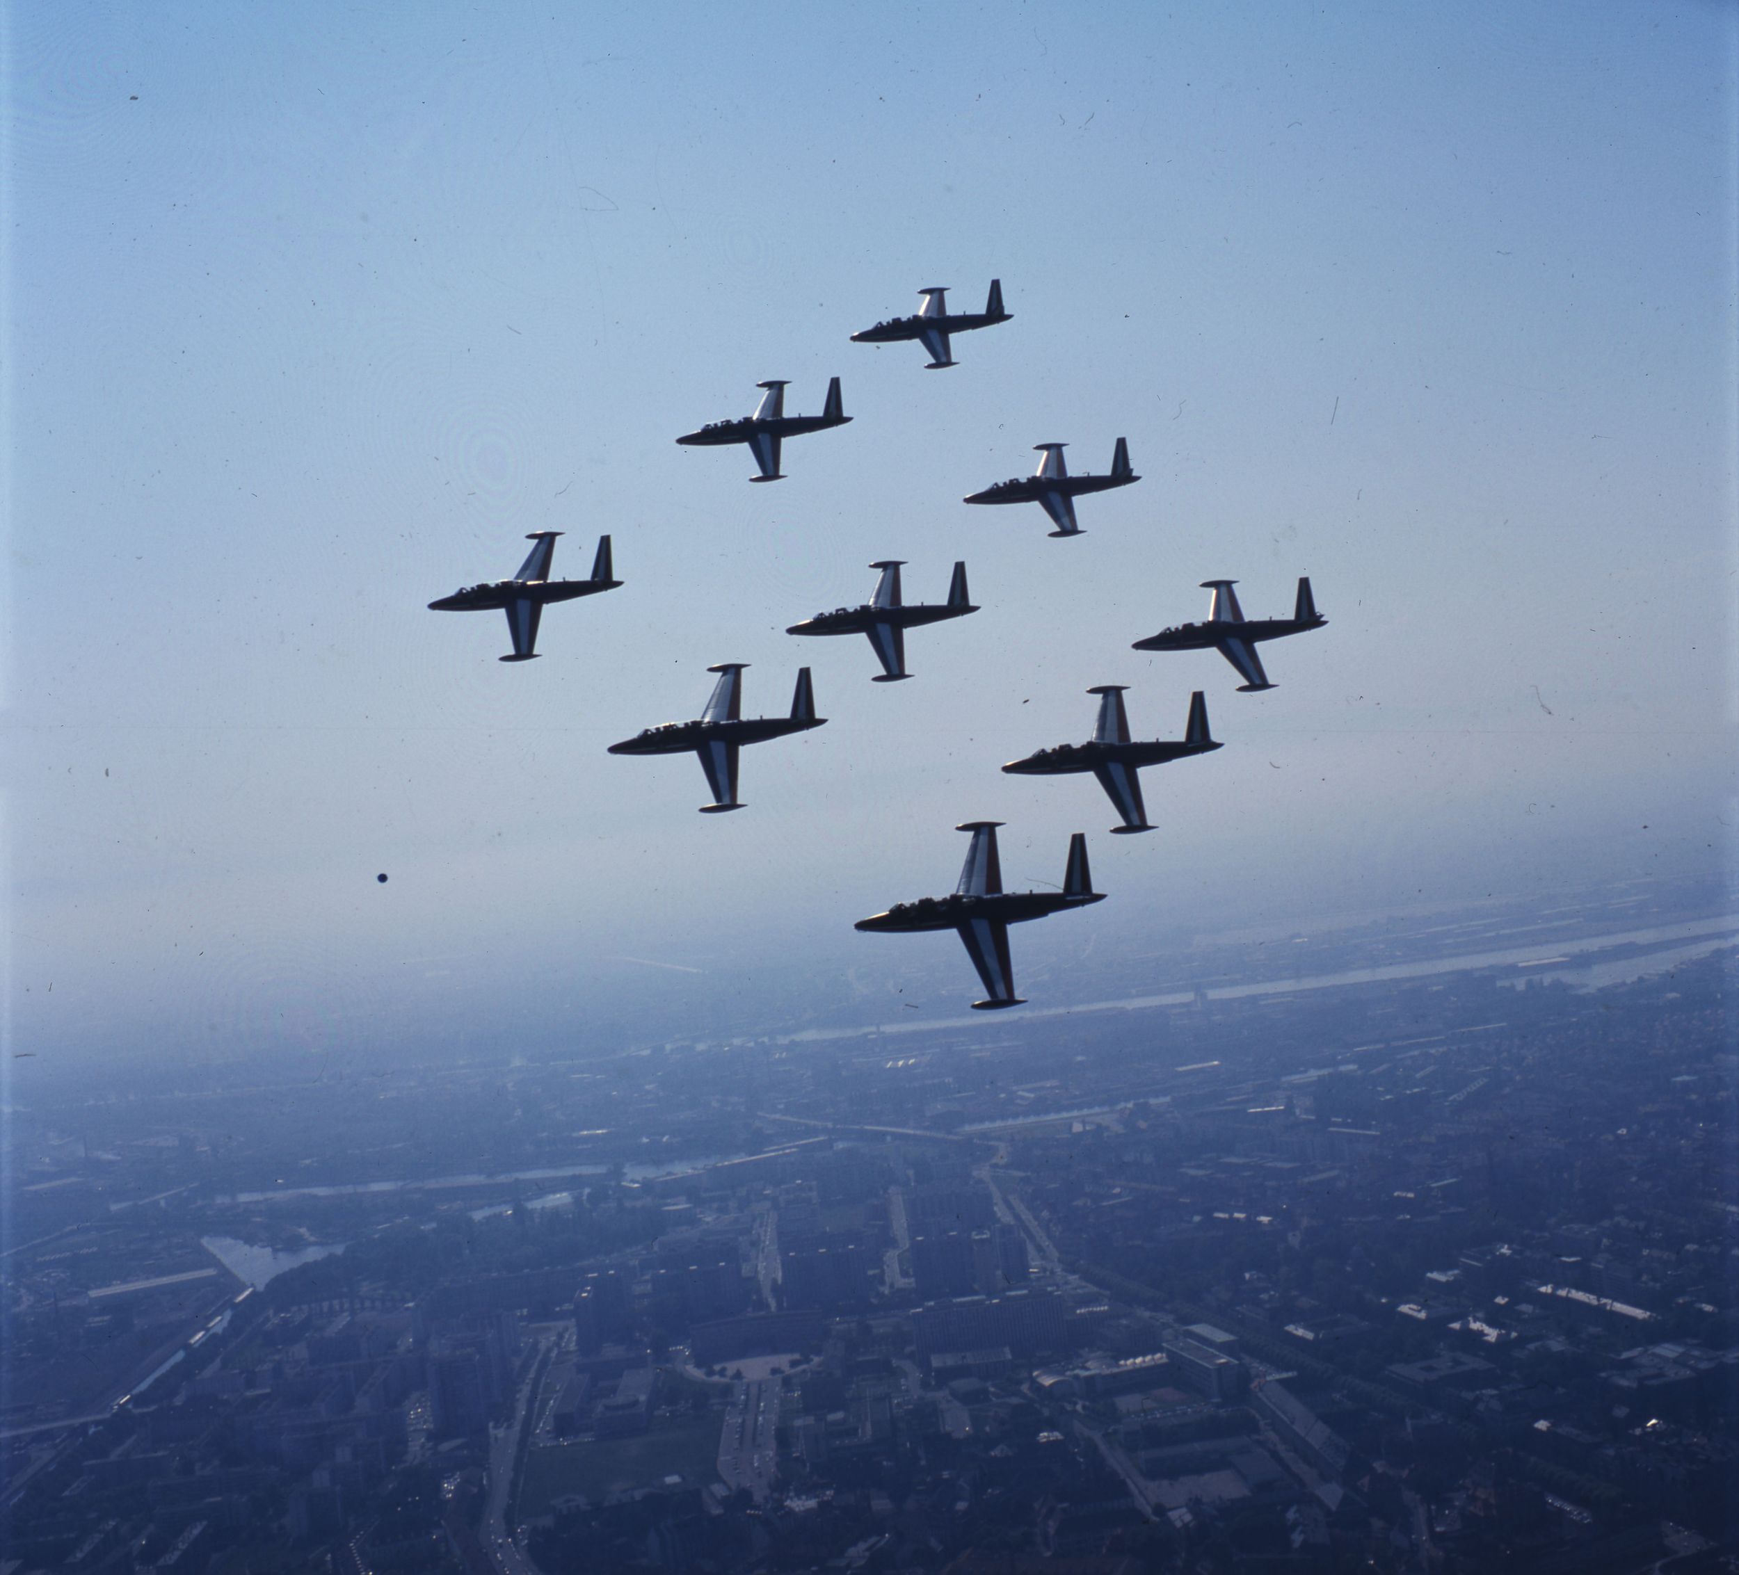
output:
[[[1016,885],[1089,831],[1113,900],[1019,937],[1057,970],[1730,867],[1729,7],[16,3],[3,45],[14,1043],[777,1027],[783,977],[824,1015],[932,963],[953,1010],[963,954],[850,921],[977,817]],[[955,370],[847,342],[993,275]],[[777,485],[671,442],[833,374],[856,419]],[[1120,435],[1078,541],[960,504]],[[424,603],[539,528],[626,584],[503,666]],[[984,605],[887,687],[783,633],[885,556]],[[1330,628],[1271,694],[1129,650],[1299,574]],[[831,721],[703,817],[692,761],[603,749],[718,661],[756,714],[809,662]],[[1108,681],[1226,741],[1148,775],[1151,836],[996,770]]]

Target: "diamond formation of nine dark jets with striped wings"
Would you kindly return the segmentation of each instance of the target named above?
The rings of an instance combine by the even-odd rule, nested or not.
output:
[[[929,351],[927,370],[956,365],[951,336],[974,329],[989,329],[1012,320],[1003,309],[1002,280],[991,280],[989,299],[981,313],[949,313],[946,289],[929,287],[918,292],[923,304],[913,316],[889,318],[873,329],[852,334],[854,344],[889,344],[916,341]],[[845,426],[840,396],[840,379],[828,382],[826,402],[819,415],[786,415],[781,379],[767,379],[753,415],[710,422],[676,438],[685,447],[744,445],[755,457],[758,475],[751,482],[779,482],[783,443],[786,438],[828,431]],[[1056,527],[1050,535],[1082,535],[1075,518],[1075,499],[1115,487],[1130,487],[1141,480],[1129,461],[1129,442],[1118,438],[1111,454],[1108,475],[1068,473],[1063,461],[1064,443],[1036,443],[1043,457],[1031,476],[1016,476],[970,494],[965,502],[1010,504],[1036,502]],[[436,612],[503,610],[513,652],[503,662],[527,662],[537,655],[537,629],[544,607],[553,601],[570,601],[614,591],[623,582],[614,577],[610,537],[598,539],[591,577],[583,581],[550,579],[555,541],[560,530],[536,530],[529,535],[532,551],[513,579],[468,586],[450,596],[430,603]],[[870,565],[880,570],[875,591],[861,607],[838,607],[791,624],[788,635],[864,635],[876,654],[882,671],[873,683],[897,683],[909,678],[906,671],[906,629],[948,619],[967,617],[979,608],[967,593],[967,567],[955,563],[948,600],[941,603],[906,603],[901,600],[899,570],[904,560],[883,558]],[[1320,629],[1327,619],[1316,612],[1309,579],[1299,579],[1297,601],[1290,619],[1247,619],[1238,605],[1233,586],[1236,581],[1210,579],[1202,588],[1214,593],[1205,622],[1177,624],[1132,643],[1132,650],[1217,650],[1243,678],[1240,694],[1257,694],[1275,685],[1263,669],[1256,647],[1264,640],[1287,635],[1304,635]],[[718,681],[701,714],[690,721],[666,721],[649,727],[610,744],[610,754],[696,754],[706,774],[713,801],[701,805],[703,814],[725,814],[743,808],[737,798],[737,758],[744,744],[762,744],[790,734],[809,732],[826,725],[816,714],[816,692],[809,668],[798,668],[796,688],[791,695],[790,716],[743,716],[743,669],[746,662],[718,662],[708,668]],[[1038,749],[1021,760],[1010,760],[1003,772],[1023,777],[1092,775],[1104,789],[1122,817],[1113,834],[1153,831],[1141,796],[1141,768],[1188,760],[1221,748],[1209,732],[1207,699],[1202,690],[1189,697],[1189,716],[1183,739],[1132,739],[1129,714],[1123,708],[1127,685],[1101,683],[1087,690],[1099,695],[1099,716],[1092,737],[1082,744],[1057,744]],[[1103,902],[1104,894],[1092,888],[1087,866],[1087,836],[1076,831],[1069,838],[1068,864],[1063,888],[1054,892],[1005,892],[1002,864],[996,854],[996,827],[1002,821],[967,821],[958,831],[972,834],[965,866],[955,890],[946,897],[920,897],[913,902],[896,902],[885,913],[859,920],[856,928],[870,934],[916,934],[923,930],[953,930],[972,958],[984,984],[984,1000],[974,1008],[995,1010],[1019,1007],[1023,998],[1014,993],[1014,965],[1009,954],[1009,925],[1049,918],[1075,907]],[[384,880],[384,876],[381,876]]]

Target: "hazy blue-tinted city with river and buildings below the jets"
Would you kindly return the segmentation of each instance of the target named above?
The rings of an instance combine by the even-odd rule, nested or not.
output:
[[[1730,1570],[1739,916],[1558,904],[19,1055],[0,1572]]]

